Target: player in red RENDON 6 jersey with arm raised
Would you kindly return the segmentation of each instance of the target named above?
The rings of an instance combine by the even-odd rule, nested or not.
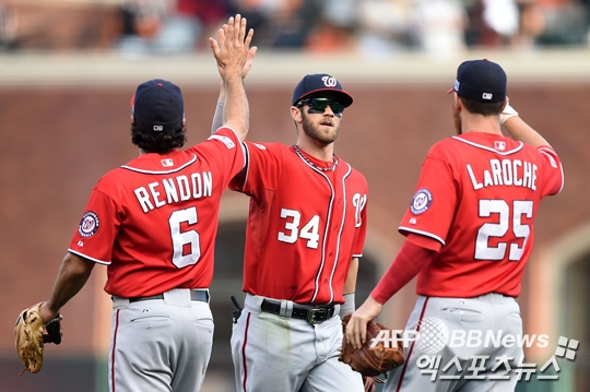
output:
[[[107,265],[113,296],[108,356],[111,392],[194,392],[203,382],[213,337],[209,285],[221,195],[245,165],[248,100],[241,82],[252,31],[239,15],[227,23],[220,48],[224,123],[186,151],[180,88],[156,79],[132,98],[132,142],[140,156],[107,173],[92,190],[42,306],[51,320],[86,283],[96,263]]]

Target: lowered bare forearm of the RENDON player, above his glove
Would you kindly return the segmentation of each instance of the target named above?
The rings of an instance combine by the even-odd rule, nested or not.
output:
[[[51,296],[46,305],[51,313],[57,313],[87,282],[94,262],[82,259],[79,256],[68,253],[61,262],[61,266],[54,285]]]

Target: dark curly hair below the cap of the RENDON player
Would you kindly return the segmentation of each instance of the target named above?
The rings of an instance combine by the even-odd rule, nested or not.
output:
[[[187,128],[181,126],[174,131],[144,131],[137,123],[131,123],[131,143],[146,153],[166,154],[180,149],[187,141]]]

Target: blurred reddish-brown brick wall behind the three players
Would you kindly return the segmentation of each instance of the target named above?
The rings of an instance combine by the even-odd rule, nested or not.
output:
[[[397,226],[414,192],[427,150],[453,134],[451,98],[446,94],[448,83],[343,83],[355,103],[345,111],[335,150],[368,179],[367,252],[385,269],[401,242]],[[211,84],[189,84],[182,88],[189,143],[196,143],[210,132],[216,88]],[[133,91],[134,86],[129,85],[0,88],[0,312],[8,316],[8,321],[0,324],[0,357],[4,358],[0,378],[10,378],[10,384],[49,376],[49,371],[42,371],[13,379],[20,366],[13,352],[12,317],[46,299],[97,179],[137,155],[128,126]],[[286,144],[295,141],[288,115],[291,94],[290,85],[248,86],[249,140]],[[540,209],[535,225],[538,254],[544,245],[590,218],[590,204],[586,202],[590,189],[590,84],[516,83],[509,87],[509,96],[521,116],[559,153],[566,175],[562,194],[545,200]],[[231,192],[225,198],[244,206],[234,209],[233,217],[243,218],[245,198]],[[379,246],[385,248],[377,249]],[[532,264],[536,262],[535,254]],[[240,269],[239,261],[235,268]],[[521,297],[526,331],[534,329],[528,312],[529,304],[538,295],[528,281]],[[88,384],[99,383],[93,373],[97,365],[92,358],[103,356],[108,342],[109,311],[104,309],[108,296],[102,290],[103,284],[104,266],[98,265],[88,284],[63,309],[62,345],[47,349],[47,355],[56,360],[86,358],[76,364],[80,367],[86,361],[88,377],[84,381]],[[412,297],[410,287],[398,302]],[[409,312],[412,306],[409,300],[401,310]],[[399,326],[403,322],[394,320]],[[8,373],[9,369],[15,372]],[[69,368],[72,369],[75,367]],[[0,391],[20,391],[4,390],[9,385],[4,380],[0,384],[5,385]]]

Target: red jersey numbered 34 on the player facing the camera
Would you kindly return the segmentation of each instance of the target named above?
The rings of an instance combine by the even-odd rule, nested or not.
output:
[[[353,258],[363,254],[367,181],[340,158],[317,161],[279,143],[246,142],[250,197],[244,292],[298,304],[344,302]]]

